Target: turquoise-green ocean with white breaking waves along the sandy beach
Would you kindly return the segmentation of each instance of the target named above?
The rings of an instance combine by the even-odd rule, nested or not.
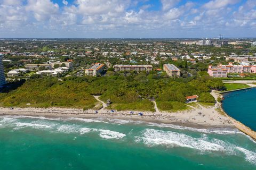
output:
[[[256,169],[256,143],[229,128],[4,115],[0,169]]]

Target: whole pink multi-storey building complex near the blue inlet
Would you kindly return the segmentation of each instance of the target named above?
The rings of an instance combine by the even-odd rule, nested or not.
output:
[[[255,70],[255,71],[254,71]],[[217,67],[209,65],[208,73],[214,78],[226,78],[228,73],[256,73],[255,66],[249,65],[233,65],[228,63],[228,65],[219,64]]]

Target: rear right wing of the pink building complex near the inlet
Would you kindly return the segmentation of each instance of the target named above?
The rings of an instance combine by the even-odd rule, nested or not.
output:
[[[233,65],[228,63],[228,65],[219,64],[222,69],[227,69],[228,73],[251,73],[252,66],[250,65]]]

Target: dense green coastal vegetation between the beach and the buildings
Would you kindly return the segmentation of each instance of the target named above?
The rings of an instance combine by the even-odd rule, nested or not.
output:
[[[198,95],[202,102],[215,102],[211,89],[222,89],[219,79],[207,75],[171,79],[156,73],[113,73],[109,77],[67,77],[30,79],[14,90],[4,89],[0,94],[2,106],[76,107],[95,108],[100,99],[111,100],[109,108],[117,110],[154,111],[149,99],[155,99],[158,108],[165,111],[186,109],[186,96]],[[30,105],[27,105],[27,104]]]

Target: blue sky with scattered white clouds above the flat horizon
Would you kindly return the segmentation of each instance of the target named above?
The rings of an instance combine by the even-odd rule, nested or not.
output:
[[[256,0],[0,0],[0,38],[256,37]]]

